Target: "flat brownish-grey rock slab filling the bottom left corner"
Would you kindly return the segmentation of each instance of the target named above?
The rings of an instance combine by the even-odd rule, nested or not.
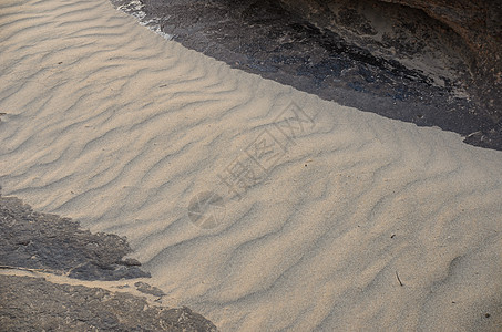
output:
[[[188,308],[100,288],[0,276],[0,331],[217,331]]]

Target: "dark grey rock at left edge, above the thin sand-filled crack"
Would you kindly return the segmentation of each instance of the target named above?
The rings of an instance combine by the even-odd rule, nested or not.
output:
[[[150,277],[136,260],[123,260],[131,252],[125,238],[91,234],[71,219],[35,212],[14,197],[0,196],[0,234],[1,266],[84,280]]]

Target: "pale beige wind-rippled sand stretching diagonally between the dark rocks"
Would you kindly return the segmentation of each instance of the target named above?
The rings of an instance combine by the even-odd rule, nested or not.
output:
[[[2,195],[126,236],[163,304],[222,331],[502,324],[501,152],[233,70],[106,0],[2,1],[0,65]]]

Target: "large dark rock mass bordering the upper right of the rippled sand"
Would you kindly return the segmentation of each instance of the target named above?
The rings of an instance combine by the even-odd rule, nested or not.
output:
[[[432,14],[418,0],[407,6],[404,0],[111,1],[143,24],[233,68],[502,149],[494,2],[483,7],[484,23],[481,9],[471,28],[458,23],[478,31],[467,34],[453,27],[463,21],[453,18],[457,8],[467,11],[474,4],[462,9],[444,2],[431,7]],[[452,18],[440,19],[442,11]],[[477,49],[473,41],[488,32]]]

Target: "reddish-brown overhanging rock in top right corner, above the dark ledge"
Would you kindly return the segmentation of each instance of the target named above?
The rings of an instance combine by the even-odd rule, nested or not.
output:
[[[450,53],[449,56],[453,58],[460,55],[459,59],[465,64],[461,79],[468,92],[481,104],[480,112],[495,124],[502,121],[502,1],[280,1],[320,28],[351,31],[352,35],[346,34],[346,38],[359,44],[365,37],[377,34],[376,15],[392,22],[393,27],[401,25],[403,29],[391,32],[393,35],[383,35],[382,43],[383,46],[396,46],[398,52],[395,56],[398,59],[404,54],[414,55],[421,50],[434,51],[430,48],[433,44],[431,37],[437,39],[444,46],[443,53]],[[430,19],[423,18],[423,13]],[[373,22],[368,18],[372,18]],[[423,29],[421,22],[428,29]],[[368,44],[365,48],[376,50],[378,45]]]

